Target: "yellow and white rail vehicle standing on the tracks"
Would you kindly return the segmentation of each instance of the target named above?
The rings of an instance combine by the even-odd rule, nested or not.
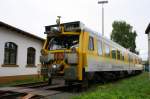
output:
[[[45,34],[40,61],[42,74],[49,78],[49,83],[58,76],[75,82],[99,79],[102,73],[120,75],[143,69],[136,54],[86,28],[80,21],[46,26]]]

